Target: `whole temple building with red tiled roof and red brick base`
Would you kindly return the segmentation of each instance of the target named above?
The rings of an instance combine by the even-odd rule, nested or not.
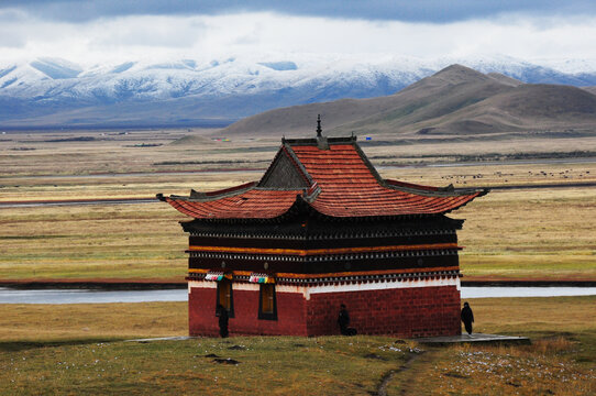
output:
[[[345,304],[361,334],[454,336],[456,231],[445,215],[486,189],[383,179],[356,138],[283,139],[261,180],[190,196],[157,195],[192,220],[191,336],[338,334]]]

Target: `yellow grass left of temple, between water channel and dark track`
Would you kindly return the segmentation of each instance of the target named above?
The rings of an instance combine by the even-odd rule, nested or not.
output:
[[[163,202],[0,210],[0,278],[178,278],[186,220]]]

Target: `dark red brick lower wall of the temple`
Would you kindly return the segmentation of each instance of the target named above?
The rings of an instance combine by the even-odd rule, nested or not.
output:
[[[317,293],[309,299],[302,293],[277,292],[276,298],[277,320],[258,319],[258,290],[234,290],[230,334],[339,334],[341,304],[347,306],[350,327],[358,334],[417,338],[461,333],[455,286]],[[190,336],[219,336],[216,288],[191,287],[188,311]]]

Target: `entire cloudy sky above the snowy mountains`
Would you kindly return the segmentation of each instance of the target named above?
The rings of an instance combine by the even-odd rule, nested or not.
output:
[[[2,61],[277,54],[596,59],[592,0],[2,0]]]

